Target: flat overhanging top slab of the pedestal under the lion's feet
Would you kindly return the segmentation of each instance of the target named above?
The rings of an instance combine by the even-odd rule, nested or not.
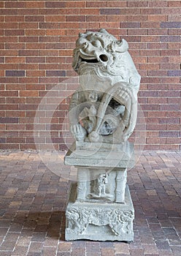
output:
[[[82,143],[81,146],[80,143],[78,146],[74,144],[67,152],[64,163],[74,166],[130,168],[134,166],[134,145],[128,141],[114,146],[104,146],[103,143]]]

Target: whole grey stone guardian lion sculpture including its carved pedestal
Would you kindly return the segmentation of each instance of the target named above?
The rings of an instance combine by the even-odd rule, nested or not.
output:
[[[125,39],[105,29],[80,34],[73,68],[80,87],[72,95],[69,122],[75,143],[66,165],[77,167],[66,208],[66,240],[133,241],[134,206],[127,167],[136,125],[140,75]]]

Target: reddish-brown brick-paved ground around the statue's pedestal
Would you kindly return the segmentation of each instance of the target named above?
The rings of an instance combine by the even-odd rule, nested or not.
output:
[[[56,166],[57,155],[42,154]],[[136,211],[131,244],[64,241],[69,169],[57,176],[36,151],[4,151],[0,159],[1,256],[181,255],[180,152],[144,151],[128,172]]]

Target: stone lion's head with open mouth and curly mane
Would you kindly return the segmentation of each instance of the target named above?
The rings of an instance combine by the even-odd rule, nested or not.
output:
[[[79,75],[109,78],[112,84],[123,81],[139,89],[140,75],[128,53],[128,42],[119,41],[105,29],[79,35],[72,67]]]

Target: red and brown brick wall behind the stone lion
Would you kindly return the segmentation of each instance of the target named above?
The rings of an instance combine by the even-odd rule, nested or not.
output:
[[[129,43],[142,75],[139,103],[145,114],[147,149],[179,149],[180,1],[1,1],[0,2],[0,148],[34,145],[34,116],[42,97],[72,70],[72,49],[79,32],[107,29]],[[76,85],[61,86],[61,97]],[[53,104],[58,91],[51,91]],[[65,148],[65,111],[51,120],[55,148]],[[48,117],[42,113],[39,142],[48,148]],[[41,123],[41,122],[40,122]],[[43,135],[44,132],[44,135]],[[63,133],[65,137],[66,131]],[[64,141],[66,140],[66,141]]]

